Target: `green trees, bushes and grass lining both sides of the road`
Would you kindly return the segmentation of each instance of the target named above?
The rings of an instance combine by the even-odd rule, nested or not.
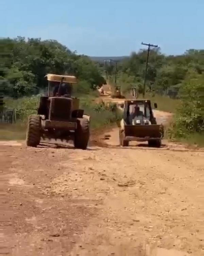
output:
[[[47,90],[47,73],[77,76],[79,83],[74,86],[74,94],[91,115],[92,129],[119,119],[116,106],[95,103],[97,86],[106,84],[105,78],[114,84],[114,63],[107,64],[104,70],[100,60],[77,55],[55,40],[0,39],[0,48],[1,91],[5,107],[15,108],[17,116],[16,124],[1,124],[1,139],[25,137],[27,117],[36,113],[39,94]],[[159,110],[175,114],[168,130],[173,140],[203,144],[203,54],[204,50],[195,49],[180,56],[165,56],[159,48],[150,52],[146,97],[157,102]],[[118,62],[117,84],[123,94],[135,87],[141,96],[146,57],[147,50],[141,49]]]

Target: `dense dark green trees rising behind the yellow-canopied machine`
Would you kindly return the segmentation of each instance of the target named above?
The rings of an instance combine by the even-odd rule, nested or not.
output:
[[[77,55],[55,40],[24,37],[0,39],[2,50],[0,76],[12,87],[10,96],[37,93],[47,86],[47,73],[76,75],[83,86],[96,89],[106,81],[98,65],[87,56]]]

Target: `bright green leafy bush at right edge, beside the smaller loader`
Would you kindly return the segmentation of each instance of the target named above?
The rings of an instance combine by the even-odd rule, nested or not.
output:
[[[169,137],[204,146],[204,75],[189,74],[179,94],[181,104],[169,128]]]

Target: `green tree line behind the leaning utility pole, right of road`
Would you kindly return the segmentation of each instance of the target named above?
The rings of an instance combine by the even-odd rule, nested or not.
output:
[[[200,75],[204,72],[203,55],[204,50],[189,49],[183,55],[166,56],[160,48],[152,49],[147,69],[147,91],[175,98],[189,73]],[[147,50],[141,49],[118,62],[117,84],[122,86],[123,93],[131,87],[136,87],[138,93],[142,93],[146,60]],[[104,63],[100,65],[103,66]],[[114,62],[107,62],[104,76],[114,84]]]

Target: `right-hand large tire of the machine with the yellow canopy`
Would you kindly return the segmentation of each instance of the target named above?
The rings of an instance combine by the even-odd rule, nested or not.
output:
[[[89,140],[89,120],[87,118],[78,119],[78,127],[74,135],[74,147],[85,150]]]

